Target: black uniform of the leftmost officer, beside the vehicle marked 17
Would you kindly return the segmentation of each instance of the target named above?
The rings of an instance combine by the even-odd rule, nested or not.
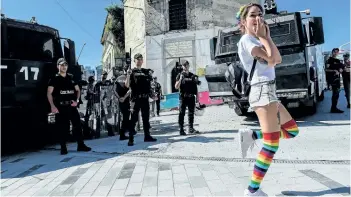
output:
[[[73,135],[77,140],[78,146],[85,146],[82,137],[82,127],[80,116],[76,107],[72,107],[72,101],[77,101],[74,86],[77,83],[73,80],[73,75],[67,74],[62,77],[56,74],[49,81],[49,86],[54,87],[52,93],[54,104],[59,113],[56,115],[56,125],[60,133],[60,144],[66,146],[67,136],[70,132],[70,122],[73,125]]]

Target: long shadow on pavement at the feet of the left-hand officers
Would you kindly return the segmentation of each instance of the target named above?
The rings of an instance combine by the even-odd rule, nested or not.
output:
[[[93,151],[91,152],[77,152],[76,143],[69,143],[67,144],[68,154],[60,155],[59,145],[48,146],[44,149],[46,151],[26,152],[2,158],[1,178],[9,180],[11,178],[23,178],[27,176],[41,177],[47,172],[80,166],[92,162],[95,162],[93,165],[101,165],[107,159],[130,153],[132,154],[131,156],[136,154],[162,153],[162,151],[166,150],[166,148],[172,143],[211,143],[233,140],[233,138],[201,136],[201,134],[180,136],[178,133],[178,123],[176,122],[162,123],[160,120],[154,120],[150,121],[150,124],[152,126],[150,132],[157,138],[157,142],[144,142],[143,130],[141,130],[135,136],[134,146],[127,146],[128,140],[119,141],[119,136],[85,140],[86,144],[92,147]],[[197,125],[198,124],[194,124],[194,126]],[[185,128],[187,127],[185,126]],[[206,134],[233,132],[237,131],[215,130],[206,132]],[[63,182],[69,182],[69,178],[80,176],[79,173],[81,172],[73,172],[73,174]]]

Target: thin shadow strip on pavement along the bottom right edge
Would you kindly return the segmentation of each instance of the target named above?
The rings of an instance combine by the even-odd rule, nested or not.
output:
[[[283,191],[284,196],[323,196],[328,194],[341,194],[343,196],[350,195],[350,187],[339,187],[330,190],[323,190],[318,192],[312,191]]]

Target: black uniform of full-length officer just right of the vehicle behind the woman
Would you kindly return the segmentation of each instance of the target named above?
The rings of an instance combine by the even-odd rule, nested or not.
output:
[[[339,71],[343,68],[343,65],[339,59],[330,57],[328,59],[327,64],[329,64],[330,70]],[[332,86],[333,96],[332,96],[332,106],[331,111],[337,110],[337,104],[339,100],[339,92],[340,92],[340,74],[336,74],[334,72],[328,72],[327,78],[329,80],[329,84]]]

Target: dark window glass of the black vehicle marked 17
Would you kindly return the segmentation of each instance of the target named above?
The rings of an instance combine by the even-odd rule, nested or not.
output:
[[[51,33],[8,26],[1,37],[3,58],[52,62],[60,55],[60,42]]]

